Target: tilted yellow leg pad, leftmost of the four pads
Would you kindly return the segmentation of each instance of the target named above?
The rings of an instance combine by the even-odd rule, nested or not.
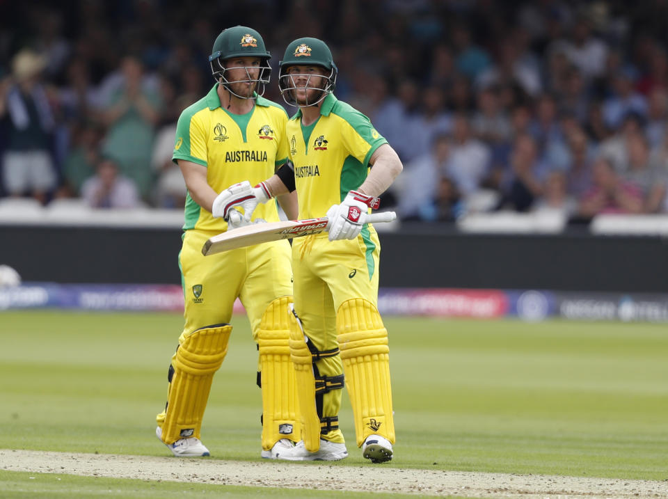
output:
[[[179,345],[162,424],[164,443],[200,438],[211,383],[228,353],[231,331],[229,324],[208,326],[189,333]]]

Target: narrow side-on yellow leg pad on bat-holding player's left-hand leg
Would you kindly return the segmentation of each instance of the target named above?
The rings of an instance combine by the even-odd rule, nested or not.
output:
[[[306,338],[301,324],[292,312],[290,322],[290,356],[294,365],[297,382],[297,397],[301,415],[301,438],[310,452],[320,448],[320,418],[315,406],[315,376],[313,357],[306,346]]]

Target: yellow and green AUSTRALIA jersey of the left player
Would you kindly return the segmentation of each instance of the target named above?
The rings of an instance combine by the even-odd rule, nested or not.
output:
[[[207,182],[219,193],[244,180],[258,184],[285,163],[287,113],[283,106],[258,96],[249,113],[232,114],[221,108],[217,87],[181,113],[172,159],[206,166]],[[256,218],[278,221],[276,202],[258,205]],[[202,209],[188,193],[183,228],[223,232],[228,224]]]

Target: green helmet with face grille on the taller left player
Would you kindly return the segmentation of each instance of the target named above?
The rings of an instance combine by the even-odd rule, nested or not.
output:
[[[269,59],[271,54],[267,51],[267,47],[264,46],[264,40],[262,40],[262,35],[257,33],[252,28],[247,26],[234,26],[233,28],[225,29],[218,35],[216,41],[214,42],[214,49],[212,54],[209,56],[209,64],[211,65],[211,72],[221,85],[225,87],[228,92],[240,97],[242,99],[248,97],[242,97],[230,90],[230,81],[225,77],[225,71],[232,68],[225,68],[223,61],[230,59],[232,57],[259,57],[260,58],[260,75],[257,79],[250,77],[248,73],[248,68],[246,68],[246,74],[248,74],[247,80],[241,81],[250,81],[257,84],[257,94],[264,94],[264,86],[269,83],[269,78],[271,75],[271,67],[269,66]],[[236,81],[234,83],[237,83]]]

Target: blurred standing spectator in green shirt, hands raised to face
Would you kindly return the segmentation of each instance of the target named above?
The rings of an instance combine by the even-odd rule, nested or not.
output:
[[[121,63],[122,87],[113,94],[104,110],[109,127],[103,153],[118,161],[120,171],[148,198],[153,182],[150,167],[154,127],[160,118],[160,98],[143,86],[143,65],[126,56]]]

